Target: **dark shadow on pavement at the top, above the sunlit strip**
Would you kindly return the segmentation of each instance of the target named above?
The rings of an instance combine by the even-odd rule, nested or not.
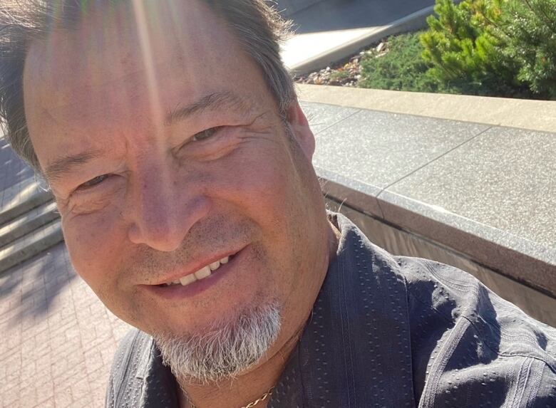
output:
[[[384,26],[433,6],[434,0],[323,0],[287,17],[296,34]]]

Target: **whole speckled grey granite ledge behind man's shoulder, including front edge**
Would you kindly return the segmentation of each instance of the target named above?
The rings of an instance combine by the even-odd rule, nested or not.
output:
[[[302,103],[326,196],[556,297],[556,134]]]

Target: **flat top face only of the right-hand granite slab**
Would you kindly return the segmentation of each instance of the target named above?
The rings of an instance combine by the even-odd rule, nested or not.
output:
[[[388,190],[553,247],[555,136],[496,127]]]

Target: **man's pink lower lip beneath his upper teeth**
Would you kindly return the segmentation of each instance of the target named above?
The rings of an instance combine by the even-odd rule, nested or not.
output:
[[[190,283],[187,286],[181,286],[181,285],[165,286],[163,284],[159,284],[159,285],[141,285],[141,287],[143,287],[146,291],[148,291],[152,295],[155,295],[158,298],[164,298],[165,300],[180,300],[184,298],[192,298],[193,296],[199,295],[200,293],[206,291],[210,287],[215,286],[220,280],[222,280],[222,278],[225,278],[225,276],[229,275],[229,273],[236,268],[237,264],[242,261],[242,258],[244,258],[245,253],[247,253],[245,249],[247,249],[247,246],[241,249],[240,251],[231,253],[230,255],[234,255],[234,257],[231,258],[228,263],[220,265],[220,268],[218,268],[217,271],[215,271],[215,273],[212,273],[211,276],[204,278],[200,281],[195,281],[193,283]],[[226,256],[227,255],[223,255],[220,258],[215,258],[213,262],[217,261],[217,259],[225,258]],[[202,268],[202,266],[205,266],[207,264],[208,263],[202,263],[199,268]],[[186,273],[185,275],[180,274],[179,277],[187,276],[190,274],[191,273]],[[175,278],[175,280],[177,279],[179,278]]]

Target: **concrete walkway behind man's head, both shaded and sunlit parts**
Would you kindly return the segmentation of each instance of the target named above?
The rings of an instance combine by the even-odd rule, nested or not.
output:
[[[287,14],[294,36],[282,59],[294,73],[324,68],[396,33],[416,30],[433,12],[434,0],[322,0]]]

